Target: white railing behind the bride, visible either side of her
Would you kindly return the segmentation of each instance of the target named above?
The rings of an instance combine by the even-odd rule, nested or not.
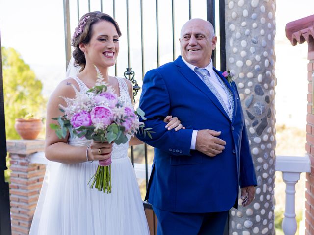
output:
[[[37,163],[37,164],[44,164],[44,165],[48,164],[48,160],[45,157],[44,152],[33,153],[29,156],[29,159],[30,159],[29,160],[30,163]],[[142,180],[146,179],[145,164],[134,163],[134,170],[135,170],[135,175],[136,175],[137,180],[141,182]],[[148,165],[148,178],[150,177],[151,172],[152,172],[152,165],[149,164]]]

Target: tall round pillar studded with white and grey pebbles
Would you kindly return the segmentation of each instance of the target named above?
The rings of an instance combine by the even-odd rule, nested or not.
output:
[[[255,200],[230,211],[229,234],[275,234],[275,0],[225,0],[227,69],[236,75],[255,164]]]

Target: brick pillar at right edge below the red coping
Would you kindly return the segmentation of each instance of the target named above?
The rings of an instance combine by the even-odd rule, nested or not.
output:
[[[305,227],[306,235],[314,235],[314,114],[312,114],[312,73],[314,73],[314,42],[308,44],[308,106],[307,106],[307,125],[306,125],[306,144],[305,149],[311,160],[311,173],[306,173],[306,192],[305,192]]]

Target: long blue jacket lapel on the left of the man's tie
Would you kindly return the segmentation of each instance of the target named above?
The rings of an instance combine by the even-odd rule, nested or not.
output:
[[[197,89],[203,92],[215,105],[216,107],[226,116],[228,120],[228,114],[222,107],[221,103],[217,99],[217,97],[210,91],[210,89],[206,86],[206,84],[196,75],[194,71],[192,71],[181,59],[181,56],[176,59],[175,64],[180,71],[180,73],[185,77],[190,83],[192,83]]]

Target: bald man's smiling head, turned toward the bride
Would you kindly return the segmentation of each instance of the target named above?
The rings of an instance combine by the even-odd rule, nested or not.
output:
[[[188,63],[199,68],[209,65],[217,42],[217,37],[210,35],[209,22],[201,19],[188,21],[182,27],[179,41],[181,55]]]

